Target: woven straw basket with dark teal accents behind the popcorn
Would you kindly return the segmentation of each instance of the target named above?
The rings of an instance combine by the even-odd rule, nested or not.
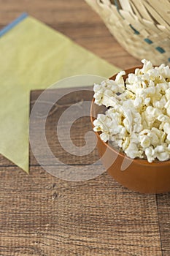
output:
[[[85,0],[136,59],[170,64],[170,0]]]

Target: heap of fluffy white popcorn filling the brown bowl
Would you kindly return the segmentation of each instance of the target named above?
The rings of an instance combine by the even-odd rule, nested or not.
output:
[[[94,131],[132,159],[166,161],[170,158],[170,68],[142,60],[124,81],[125,71],[115,80],[94,85],[97,105],[107,111],[93,121]]]

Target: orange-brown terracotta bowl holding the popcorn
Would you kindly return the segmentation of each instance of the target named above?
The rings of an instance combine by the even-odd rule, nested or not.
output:
[[[134,69],[136,67],[127,69],[124,79],[127,78],[128,73],[134,72]],[[115,79],[115,76],[110,79]],[[90,110],[92,126],[98,113],[102,112],[104,112],[104,106],[96,105],[93,99]],[[170,192],[170,161],[149,163],[146,159],[130,159],[123,152],[104,143],[99,133],[95,133],[101,162],[116,181],[136,192],[150,194]]]

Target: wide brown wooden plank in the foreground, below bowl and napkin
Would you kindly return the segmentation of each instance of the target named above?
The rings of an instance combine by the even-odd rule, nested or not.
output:
[[[155,195],[0,167],[0,255],[161,255]]]

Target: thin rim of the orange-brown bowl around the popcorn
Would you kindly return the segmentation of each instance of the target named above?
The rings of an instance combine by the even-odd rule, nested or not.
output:
[[[153,66],[155,67],[155,66]],[[125,75],[123,76],[127,76],[128,73],[129,73],[129,70],[134,70],[136,68],[142,68],[142,66],[139,66],[139,67],[132,67],[130,69],[125,69]],[[112,75],[112,77],[109,78],[109,80],[113,80],[115,79],[115,76],[118,74],[118,72],[115,74],[115,75]],[[91,121],[91,124],[92,124],[92,127],[94,128],[94,124],[93,124],[93,121],[95,120],[95,117],[93,116],[93,105],[97,105],[95,102],[95,99],[93,98],[92,101],[91,101],[91,105],[90,105],[90,121]],[[97,105],[98,106],[98,105]],[[97,135],[97,138],[98,140],[101,140],[100,136],[99,136],[99,133],[98,132],[95,132],[96,135]],[[158,165],[161,165],[161,166],[167,166],[170,164],[170,159],[169,160],[166,160],[166,161],[159,161],[159,160],[154,160],[153,162],[148,162],[147,159],[140,159],[140,158],[135,158],[135,159],[132,159],[130,157],[128,157],[124,152],[121,152],[121,151],[117,151],[116,148],[112,147],[112,146],[109,146],[108,142],[104,142],[104,140],[101,140],[101,143],[104,144],[105,147],[109,148],[109,150],[113,151],[115,154],[117,154],[119,157],[122,157],[122,158],[127,158],[133,162],[135,162],[136,164],[138,165],[152,165],[152,166],[158,166]]]

